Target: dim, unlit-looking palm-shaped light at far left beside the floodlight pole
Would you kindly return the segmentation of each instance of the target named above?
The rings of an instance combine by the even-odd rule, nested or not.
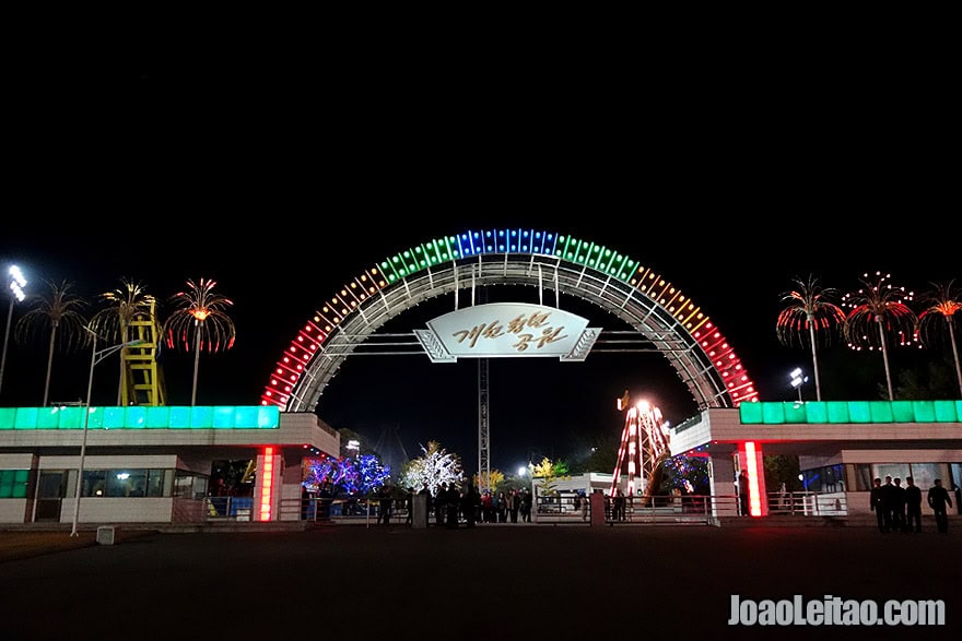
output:
[[[66,351],[85,345],[90,342],[90,334],[85,331],[86,318],[81,310],[86,307],[86,301],[70,294],[73,283],[61,281],[59,284],[47,281],[50,289],[49,296],[34,294],[27,297],[27,305],[32,307],[16,321],[15,337],[17,342],[26,342],[50,330],[50,342],[47,348],[47,378],[44,382],[44,404],[50,395],[50,375],[54,370],[54,351],[57,345]]]

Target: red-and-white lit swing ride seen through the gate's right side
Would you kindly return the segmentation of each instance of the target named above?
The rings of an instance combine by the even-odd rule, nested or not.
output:
[[[611,496],[618,491],[621,472],[627,470],[627,496],[635,496],[636,476],[641,476],[645,487],[642,503],[652,498],[661,483],[661,463],[670,455],[668,431],[661,423],[661,411],[647,401],[631,404],[631,395],[625,390],[618,400],[618,409],[624,412],[624,429],[621,446],[618,448],[618,463],[611,479]]]

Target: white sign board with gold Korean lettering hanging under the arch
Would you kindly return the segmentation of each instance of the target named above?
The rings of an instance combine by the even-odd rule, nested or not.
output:
[[[414,334],[434,363],[553,356],[584,360],[600,329],[567,311],[526,302],[477,305],[427,321]]]

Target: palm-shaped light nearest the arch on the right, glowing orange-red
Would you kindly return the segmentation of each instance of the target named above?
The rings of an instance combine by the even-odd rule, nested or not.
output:
[[[778,314],[775,331],[783,345],[791,346],[797,342],[803,346],[806,340],[808,341],[812,351],[816,399],[821,401],[817,335],[821,332],[825,336],[831,336],[833,332],[837,332],[845,323],[845,312],[831,300],[837,292],[820,287],[813,276],[809,275],[808,281],[796,278],[795,283],[798,289],[782,295],[782,300],[789,301],[790,305]]]

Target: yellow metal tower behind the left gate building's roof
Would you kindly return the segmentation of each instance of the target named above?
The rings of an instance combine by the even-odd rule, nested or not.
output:
[[[122,405],[166,405],[164,370],[157,365],[157,351],[164,331],[156,316],[156,301],[150,311],[138,312],[128,325],[128,341],[143,341],[121,349],[124,380],[120,385]]]

